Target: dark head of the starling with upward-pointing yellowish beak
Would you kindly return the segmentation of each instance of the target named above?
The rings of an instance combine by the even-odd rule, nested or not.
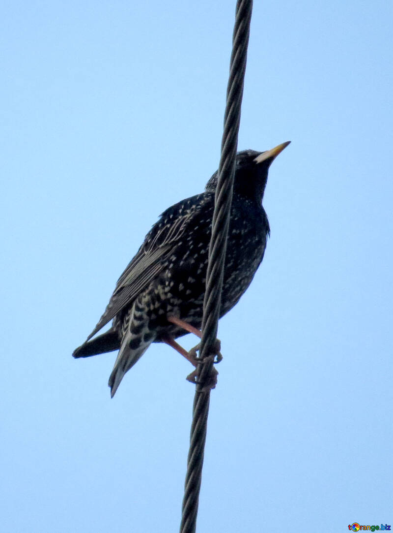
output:
[[[271,150],[256,152],[243,150],[236,154],[235,182],[233,191],[245,198],[251,198],[261,203],[267,182],[267,173],[274,159],[288,146],[290,141],[283,142]],[[206,191],[213,191],[217,187],[218,171],[206,184]]]

